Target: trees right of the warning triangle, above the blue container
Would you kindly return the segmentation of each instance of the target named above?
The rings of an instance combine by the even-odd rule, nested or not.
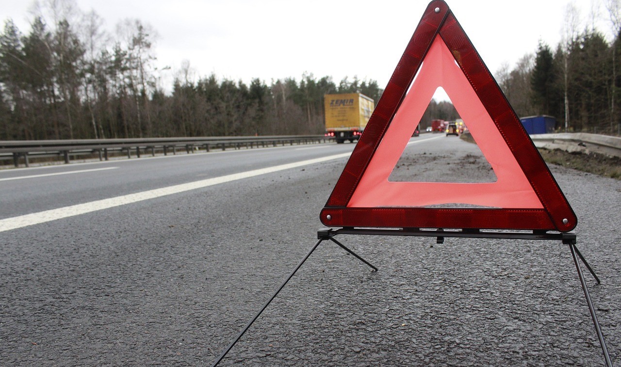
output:
[[[535,53],[504,65],[496,79],[518,116],[556,117],[556,129],[619,135],[621,130],[621,1],[604,0],[584,25],[576,7],[566,7],[562,39],[540,41]],[[597,9],[592,7],[592,9]],[[596,26],[610,25],[612,40]]]

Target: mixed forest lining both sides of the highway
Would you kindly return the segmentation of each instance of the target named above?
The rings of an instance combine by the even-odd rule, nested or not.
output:
[[[293,135],[324,132],[324,94],[360,92],[377,103],[378,83],[330,76],[250,84],[212,74],[195,80],[189,61],[170,91],[155,64],[156,30],[123,20],[112,35],[72,0],[43,0],[27,33],[7,19],[0,33],[0,140]],[[621,0],[603,0],[614,39],[584,27],[568,6],[563,40],[540,42],[496,79],[518,116],[556,117],[558,130],[619,134]],[[458,118],[448,101],[431,119]],[[425,124],[427,122],[427,124]]]

